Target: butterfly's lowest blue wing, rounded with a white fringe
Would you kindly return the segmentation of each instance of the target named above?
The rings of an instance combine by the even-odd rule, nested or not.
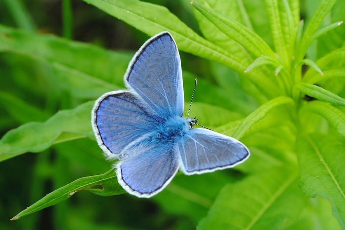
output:
[[[117,178],[122,187],[137,197],[152,197],[162,191],[178,169],[173,144],[158,144],[147,149],[138,148],[135,157],[116,165]]]

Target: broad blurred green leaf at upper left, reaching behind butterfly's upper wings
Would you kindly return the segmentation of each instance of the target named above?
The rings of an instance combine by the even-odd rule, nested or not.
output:
[[[0,51],[21,54],[48,63],[55,73],[53,80],[62,85],[65,83],[64,89],[66,87],[73,90],[81,88],[84,94],[93,92],[92,87],[85,88],[87,84],[96,84],[97,93],[101,84],[108,88],[113,85],[123,86],[123,75],[133,56],[133,54],[115,53],[54,35],[27,33],[2,25],[0,25]],[[73,79],[69,79],[70,72],[73,73]],[[68,83],[73,83],[73,85],[67,84],[67,79]],[[91,94],[88,98],[94,97],[95,94]]]

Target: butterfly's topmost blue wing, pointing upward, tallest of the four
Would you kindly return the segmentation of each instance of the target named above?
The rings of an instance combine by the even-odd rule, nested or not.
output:
[[[162,118],[182,116],[181,61],[170,33],[160,33],[146,41],[125,76],[130,87]]]

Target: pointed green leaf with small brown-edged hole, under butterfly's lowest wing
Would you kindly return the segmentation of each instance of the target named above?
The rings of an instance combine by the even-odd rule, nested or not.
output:
[[[41,198],[33,205],[27,207],[15,215],[11,220],[18,220],[24,216],[37,212],[43,208],[60,203],[73,196],[76,192],[87,190],[99,196],[113,196],[123,194],[124,190],[116,180],[116,174],[110,169],[102,175],[87,176],[79,178],[64,187],[61,187],[45,197]]]

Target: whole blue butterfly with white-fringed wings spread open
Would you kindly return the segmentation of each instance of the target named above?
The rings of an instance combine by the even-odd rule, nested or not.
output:
[[[92,127],[114,166],[121,186],[137,197],[161,192],[180,169],[187,175],[234,167],[249,157],[240,141],[202,128],[182,117],[181,61],[173,37],[147,40],[124,76],[128,90],[96,100]],[[193,129],[192,129],[193,128]]]

